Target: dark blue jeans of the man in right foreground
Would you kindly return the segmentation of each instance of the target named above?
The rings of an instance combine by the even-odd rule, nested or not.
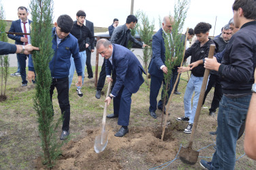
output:
[[[236,141],[246,119],[251,95],[231,99],[223,95],[218,112],[217,150],[212,157],[213,169],[234,169]]]

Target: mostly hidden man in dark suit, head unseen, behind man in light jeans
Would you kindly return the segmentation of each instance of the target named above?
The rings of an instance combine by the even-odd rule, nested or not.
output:
[[[89,20],[85,20],[85,26],[89,28],[91,34],[94,36],[94,26],[93,22]],[[91,53],[94,52],[94,43],[90,43],[90,38],[86,38],[86,44],[90,44],[88,48],[86,48],[86,68],[88,73],[88,78],[93,78],[93,69],[91,67]]]

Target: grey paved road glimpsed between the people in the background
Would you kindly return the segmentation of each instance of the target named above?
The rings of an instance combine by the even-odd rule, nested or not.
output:
[[[133,53],[135,54],[135,56],[143,55],[142,49],[140,49],[140,48],[132,48],[131,50],[133,50]],[[9,57],[10,57],[10,67],[18,67],[16,54],[9,54]],[[142,63],[142,60],[140,59],[140,57],[137,56],[137,58],[139,59],[140,63]],[[28,65],[28,61],[29,60],[27,59],[27,65]],[[93,52],[91,54],[91,65],[92,66],[95,66],[95,61],[96,61],[96,52]],[[103,57],[99,54],[99,66],[101,66],[102,63],[103,63]]]

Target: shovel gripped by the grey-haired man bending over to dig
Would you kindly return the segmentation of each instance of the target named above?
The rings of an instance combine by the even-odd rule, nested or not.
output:
[[[108,97],[108,95],[110,95],[111,84],[112,84],[112,82],[108,83],[107,97]],[[103,118],[102,118],[101,135],[98,135],[97,137],[95,137],[94,150],[97,154],[99,154],[99,152],[102,152],[103,150],[105,150],[105,148],[108,144],[108,131],[105,131],[107,107],[108,107],[108,103],[105,102]]]

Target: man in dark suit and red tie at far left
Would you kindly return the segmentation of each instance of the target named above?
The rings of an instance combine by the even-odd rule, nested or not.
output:
[[[15,33],[30,33],[31,20],[27,18],[29,12],[26,7],[18,7],[18,16],[20,20],[15,20],[12,22],[9,32]],[[10,39],[15,40],[15,44],[18,45],[27,45],[31,44],[30,35],[7,35]],[[26,60],[29,55],[26,54],[17,54],[18,64],[20,65],[20,75],[22,78],[22,87],[27,86],[26,80]]]

